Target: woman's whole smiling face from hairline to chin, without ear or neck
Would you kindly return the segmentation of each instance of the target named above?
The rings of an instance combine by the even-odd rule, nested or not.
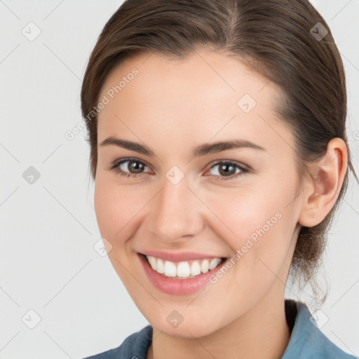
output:
[[[114,269],[157,330],[201,337],[283,302],[302,197],[294,137],[273,110],[279,91],[205,49],[136,55],[107,76],[95,212]]]

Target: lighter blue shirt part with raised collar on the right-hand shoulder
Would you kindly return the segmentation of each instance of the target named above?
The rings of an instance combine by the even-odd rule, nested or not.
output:
[[[306,304],[287,299],[286,306],[297,306],[297,315],[282,359],[356,359],[355,356],[342,351],[320,331],[316,318]]]

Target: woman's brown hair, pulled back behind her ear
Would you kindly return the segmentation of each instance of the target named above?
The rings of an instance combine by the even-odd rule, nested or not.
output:
[[[309,1],[127,0],[102,29],[81,89],[93,179],[97,167],[94,108],[111,69],[141,51],[181,59],[202,46],[238,56],[283,90],[276,111],[294,133],[300,184],[312,176],[308,164],[325,154],[332,138],[348,144],[343,63],[330,28]],[[348,168],[358,181],[349,152]],[[347,186],[348,171],[323,222],[300,229],[291,273],[301,274],[302,283],[313,282],[326,232]]]

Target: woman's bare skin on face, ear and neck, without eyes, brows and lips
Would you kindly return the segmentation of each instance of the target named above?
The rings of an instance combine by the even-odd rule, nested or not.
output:
[[[131,57],[112,69],[99,98],[133,67],[139,74],[98,116],[95,212],[116,273],[154,327],[147,358],[280,358],[290,340],[283,298],[297,235],[301,225],[321,222],[337,200],[345,143],[332,140],[311,168],[316,180],[299,189],[294,137],[273,110],[275,84],[238,57],[201,48],[184,60]],[[257,102],[248,114],[237,104],[246,93]],[[145,144],[156,155],[100,146],[110,136]],[[191,154],[199,144],[240,138],[265,151]],[[108,169],[128,157],[146,165],[142,174]],[[224,160],[251,170],[236,168],[225,180],[213,167]],[[131,173],[128,164],[121,168]],[[174,165],[184,173],[178,184],[165,177]],[[276,212],[278,222],[201,293],[158,291],[137,258],[146,250],[231,257]],[[184,318],[177,327],[166,320],[173,310]]]

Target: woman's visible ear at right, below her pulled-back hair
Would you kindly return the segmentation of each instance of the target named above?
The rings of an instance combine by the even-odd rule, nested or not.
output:
[[[346,143],[338,137],[333,138],[325,156],[311,168],[313,179],[305,187],[299,224],[311,227],[323,221],[337,201],[347,168]]]

